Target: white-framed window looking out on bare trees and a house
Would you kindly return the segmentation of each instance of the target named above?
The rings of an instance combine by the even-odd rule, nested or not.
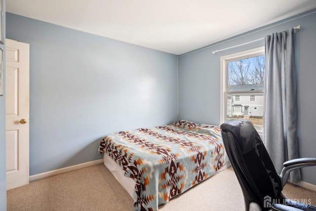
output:
[[[221,123],[249,119],[263,127],[265,48],[221,57]]]

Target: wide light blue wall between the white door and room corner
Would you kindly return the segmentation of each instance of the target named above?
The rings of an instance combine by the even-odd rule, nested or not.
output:
[[[30,175],[101,159],[107,133],[177,119],[176,55],[11,13],[6,30],[30,43]]]

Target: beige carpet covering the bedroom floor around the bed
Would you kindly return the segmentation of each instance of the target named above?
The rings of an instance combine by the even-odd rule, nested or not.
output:
[[[311,199],[316,193],[287,184],[284,195]],[[7,211],[133,211],[133,200],[103,164],[31,182],[7,191]],[[243,197],[230,167],[184,192],[159,211],[244,211]]]

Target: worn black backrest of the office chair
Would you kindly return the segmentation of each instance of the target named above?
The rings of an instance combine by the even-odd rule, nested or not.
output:
[[[269,210],[264,203],[283,199],[282,184],[271,158],[252,123],[230,120],[221,125],[225,150],[241,186],[246,210],[251,202]],[[271,209],[271,208],[270,208]]]

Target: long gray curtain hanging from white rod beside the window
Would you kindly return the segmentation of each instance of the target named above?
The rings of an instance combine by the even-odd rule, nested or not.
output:
[[[292,31],[266,36],[263,139],[277,173],[285,161],[298,158],[294,60]],[[289,180],[299,182],[300,170],[292,170]]]

